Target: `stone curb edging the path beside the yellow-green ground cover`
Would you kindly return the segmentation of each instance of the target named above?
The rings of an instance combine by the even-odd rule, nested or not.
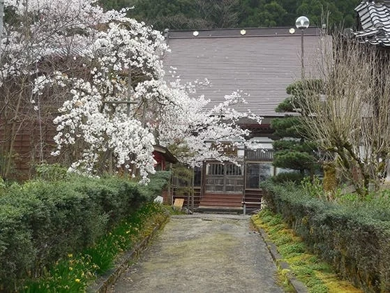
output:
[[[267,244],[269,253],[271,253],[271,257],[276,263],[276,266],[278,266],[280,269],[288,270],[286,274],[287,280],[288,283],[292,285],[294,292],[308,293],[308,288],[300,280],[297,280],[297,278],[295,278],[295,276],[291,273],[292,269],[290,268],[290,265],[283,260],[282,256],[278,253],[278,248],[276,247],[276,245],[268,239],[267,233],[262,228],[257,227],[257,225],[255,225],[255,223],[253,222],[252,218],[250,218],[250,220],[256,227],[256,230],[259,232],[260,236],[262,236],[263,241]]]

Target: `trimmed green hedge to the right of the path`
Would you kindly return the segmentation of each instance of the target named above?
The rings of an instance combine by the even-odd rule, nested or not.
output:
[[[389,204],[325,202],[292,184],[262,188],[269,208],[343,278],[365,292],[390,292]]]

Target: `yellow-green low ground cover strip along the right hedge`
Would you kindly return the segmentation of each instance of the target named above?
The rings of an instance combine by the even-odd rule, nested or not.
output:
[[[308,292],[363,292],[351,283],[340,280],[327,262],[309,253],[305,243],[287,227],[280,215],[264,209],[253,216],[252,220],[255,226],[262,228],[269,239],[275,243],[283,260],[290,265],[291,272],[308,287]],[[289,270],[278,268],[278,277],[287,292],[294,292],[288,283],[289,272]]]

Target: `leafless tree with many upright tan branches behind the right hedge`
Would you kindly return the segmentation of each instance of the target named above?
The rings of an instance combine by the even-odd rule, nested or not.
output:
[[[333,153],[340,174],[360,195],[369,183],[376,188],[388,172],[390,159],[389,56],[343,36],[333,38],[333,52],[324,54],[324,99],[306,96],[295,107],[307,137]]]

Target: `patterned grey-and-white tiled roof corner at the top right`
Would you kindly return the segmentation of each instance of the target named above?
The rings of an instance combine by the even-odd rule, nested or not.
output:
[[[355,10],[359,28],[353,33],[359,42],[390,47],[390,1],[362,1]]]

